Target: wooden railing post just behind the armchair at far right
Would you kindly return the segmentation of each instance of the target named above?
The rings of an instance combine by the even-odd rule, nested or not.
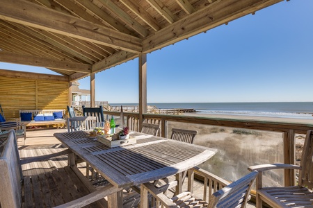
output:
[[[284,144],[284,164],[295,164],[295,144],[294,144],[294,130],[289,130],[283,133],[283,144]],[[294,170],[284,170],[284,186],[290,187],[296,184]]]

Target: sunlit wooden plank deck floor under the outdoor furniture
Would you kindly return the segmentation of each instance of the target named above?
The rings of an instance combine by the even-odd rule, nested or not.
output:
[[[37,155],[47,155],[49,153],[56,153],[58,151],[64,150],[65,148],[61,145],[60,141],[54,137],[56,132],[67,132],[66,129],[48,129],[48,130],[31,130],[26,132],[26,142],[25,145],[19,144],[20,157],[31,157]],[[42,162],[38,164],[27,164],[23,165],[23,174],[29,175],[31,171],[35,173],[42,173],[45,171],[51,171],[53,168],[58,168],[67,165],[67,157],[60,156],[56,159],[49,160],[48,162]],[[86,164],[79,164],[79,169],[83,174],[86,173]],[[185,182],[186,184],[186,182]],[[198,187],[202,187],[203,184],[198,183]],[[202,191],[202,189],[199,189]],[[197,193],[195,190],[195,195],[201,198],[202,193]],[[140,200],[140,196],[136,193],[126,193],[125,192],[125,203],[124,207],[137,207]],[[255,207],[253,203],[250,203],[248,208]]]

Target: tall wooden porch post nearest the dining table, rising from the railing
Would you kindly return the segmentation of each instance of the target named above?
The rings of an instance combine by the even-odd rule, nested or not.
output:
[[[139,131],[147,112],[147,54],[139,54]]]

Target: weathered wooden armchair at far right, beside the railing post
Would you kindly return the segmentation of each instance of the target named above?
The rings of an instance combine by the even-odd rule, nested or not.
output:
[[[313,207],[313,130],[308,130],[303,145],[300,166],[293,164],[263,164],[250,166],[257,176],[257,207],[266,202],[271,207]],[[262,174],[271,169],[298,169],[298,185],[292,187],[262,187]]]

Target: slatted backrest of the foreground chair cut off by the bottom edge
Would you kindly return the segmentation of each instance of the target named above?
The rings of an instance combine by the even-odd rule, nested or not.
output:
[[[252,183],[257,177],[257,171],[241,177],[227,187],[212,194],[208,208],[215,207],[246,207],[249,200]]]

